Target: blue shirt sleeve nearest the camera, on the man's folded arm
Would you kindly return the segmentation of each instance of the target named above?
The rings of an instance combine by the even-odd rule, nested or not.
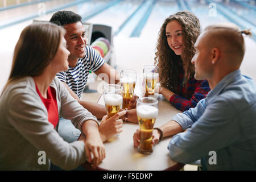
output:
[[[207,106],[191,129],[172,138],[168,145],[170,157],[176,162],[190,163],[207,156],[209,151],[232,144],[238,138],[237,113],[229,102],[218,98]]]

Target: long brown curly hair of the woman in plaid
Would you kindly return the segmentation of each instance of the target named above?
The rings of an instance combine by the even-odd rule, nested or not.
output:
[[[172,20],[177,20],[182,27],[183,52],[181,56],[176,55],[167,43],[166,26]],[[179,70],[183,69],[183,64],[188,64],[188,76],[194,76],[195,67],[191,63],[191,59],[195,55],[194,44],[199,35],[199,19],[189,11],[179,11],[164,20],[159,31],[157,51],[155,52],[155,64],[159,67],[159,82],[161,86],[177,93],[177,88],[181,84],[179,83]]]

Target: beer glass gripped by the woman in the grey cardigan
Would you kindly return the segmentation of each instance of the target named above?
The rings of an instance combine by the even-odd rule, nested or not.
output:
[[[108,118],[117,114],[122,107],[122,86],[110,84],[104,87],[104,101]]]

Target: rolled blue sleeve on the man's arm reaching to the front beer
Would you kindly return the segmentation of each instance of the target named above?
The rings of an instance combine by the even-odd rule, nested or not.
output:
[[[199,101],[195,108],[190,108],[183,113],[176,114],[172,120],[180,124],[183,130],[192,126],[194,122],[204,113],[205,110],[205,99]]]

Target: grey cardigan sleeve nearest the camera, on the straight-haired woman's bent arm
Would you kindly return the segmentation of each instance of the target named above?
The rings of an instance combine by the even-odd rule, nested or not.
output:
[[[20,90],[18,90],[20,91]],[[63,169],[73,169],[86,160],[84,142],[65,142],[48,122],[43,102],[34,90],[16,92],[7,102],[7,119],[32,146],[45,151],[53,164]],[[39,98],[39,99],[38,99]]]

